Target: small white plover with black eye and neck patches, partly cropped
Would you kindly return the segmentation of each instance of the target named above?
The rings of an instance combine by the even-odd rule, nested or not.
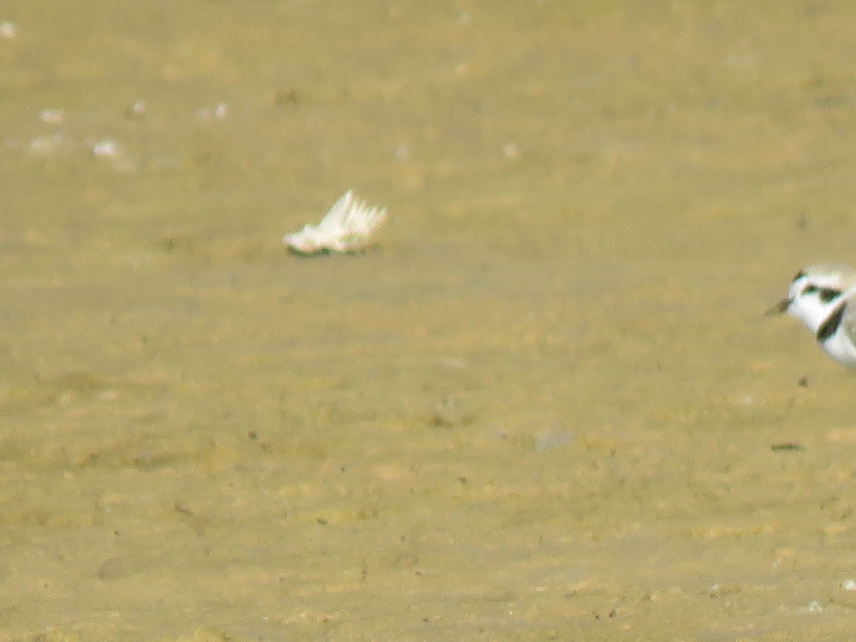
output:
[[[770,314],[788,312],[814,333],[838,363],[856,369],[856,270],[846,265],[813,265],[797,272],[788,296]]]

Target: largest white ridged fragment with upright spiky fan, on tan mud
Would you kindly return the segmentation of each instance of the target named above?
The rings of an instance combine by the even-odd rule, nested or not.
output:
[[[330,207],[316,226],[304,225],[300,232],[282,237],[294,253],[359,252],[386,218],[386,208],[369,207],[348,190]]]

